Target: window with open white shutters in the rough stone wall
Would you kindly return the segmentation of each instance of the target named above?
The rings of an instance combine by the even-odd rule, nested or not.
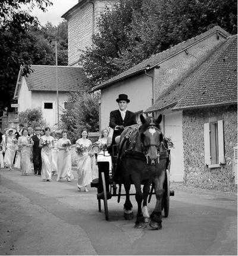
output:
[[[204,124],[205,164],[209,168],[225,164],[223,121]]]

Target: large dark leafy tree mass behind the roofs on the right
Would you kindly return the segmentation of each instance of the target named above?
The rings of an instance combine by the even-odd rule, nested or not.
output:
[[[237,33],[235,0],[120,0],[80,61],[90,87],[213,26]]]

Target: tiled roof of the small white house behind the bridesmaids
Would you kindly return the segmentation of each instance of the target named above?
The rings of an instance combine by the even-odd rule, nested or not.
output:
[[[33,72],[26,77],[27,87],[30,91],[56,91],[56,67],[32,65]],[[58,66],[58,90],[59,91],[81,91],[83,89],[84,73],[82,67]],[[21,81],[21,68],[15,88],[15,97]]]

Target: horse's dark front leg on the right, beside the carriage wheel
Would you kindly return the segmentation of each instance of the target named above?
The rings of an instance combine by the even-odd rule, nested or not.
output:
[[[162,196],[164,193],[164,189],[163,189],[164,179],[165,179],[164,171],[162,171],[159,177],[156,177],[154,179],[156,205],[155,205],[154,211],[151,214],[151,221],[149,223],[149,226],[151,226],[151,228],[155,230],[162,229],[161,203],[162,203]]]

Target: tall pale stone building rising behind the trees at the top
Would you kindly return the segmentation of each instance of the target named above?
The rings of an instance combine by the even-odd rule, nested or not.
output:
[[[80,51],[92,45],[92,35],[98,32],[97,21],[105,10],[113,7],[116,0],[79,0],[61,17],[68,23],[68,66],[79,63]]]

